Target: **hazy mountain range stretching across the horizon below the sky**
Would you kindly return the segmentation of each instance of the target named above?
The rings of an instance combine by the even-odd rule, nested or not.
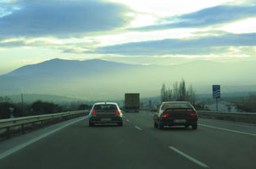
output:
[[[27,65],[0,76],[0,95],[67,95],[88,101],[123,99],[126,92],[142,97],[159,95],[163,83],[172,87],[182,78],[198,94],[210,94],[212,85],[222,92],[256,91],[256,63],[195,61],[175,66],[134,65],[99,59],[53,59]]]

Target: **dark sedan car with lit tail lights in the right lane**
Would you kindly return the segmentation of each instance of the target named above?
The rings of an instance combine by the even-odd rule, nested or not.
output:
[[[187,101],[166,101],[158,107],[153,116],[154,128],[164,126],[192,126],[198,128],[198,115],[196,109]]]

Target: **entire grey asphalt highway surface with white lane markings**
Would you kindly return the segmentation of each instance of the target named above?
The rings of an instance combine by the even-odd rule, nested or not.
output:
[[[153,112],[124,116],[123,127],[78,117],[4,140],[0,168],[256,168],[255,125],[199,118],[198,130],[159,130]]]

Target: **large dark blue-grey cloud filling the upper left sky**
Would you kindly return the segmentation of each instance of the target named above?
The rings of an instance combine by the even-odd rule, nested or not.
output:
[[[92,0],[21,0],[19,10],[0,18],[0,38],[70,37],[120,28],[131,9]],[[2,14],[3,15],[3,14]]]

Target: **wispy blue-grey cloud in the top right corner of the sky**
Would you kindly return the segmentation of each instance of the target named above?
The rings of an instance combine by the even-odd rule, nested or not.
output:
[[[132,28],[131,30],[150,31],[175,28],[197,28],[211,25],[224,25],[241,19],[256,17],[256,6],[220,5],[204,8],[191,14],[182,14],[159,20],[159,24]],[[164,24],[161,24],[164,23]]]

